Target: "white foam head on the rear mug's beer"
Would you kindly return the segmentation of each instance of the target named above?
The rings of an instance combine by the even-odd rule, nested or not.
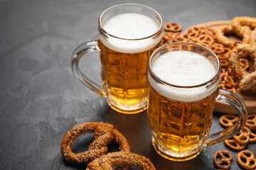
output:
[[[157,33],[159,24],[141,13],[120,13],[105,21],[102,27],[108,34],[117,38],[110,37],[105,40],[99,35],[100,40],[104,45],[117,52],[144,52],[156,46],[161,40],[161,36],[157,40],[146,38]]]

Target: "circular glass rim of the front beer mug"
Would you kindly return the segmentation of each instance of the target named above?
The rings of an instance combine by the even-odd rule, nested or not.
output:
[[[217,60],[218,62],[218,67],[216,69],[216,72],[215,74],[213,75],[213,77],[211,77],[208,81],[202,83],[202,84],[198,84],[198,85],[193,85],[193,86],[178,86],[178,85],[175,85],[175,84],[171,84],[167,81],[165,81],[164,79],[161,79],[159,76],[157,76],[157,74],[154,72],[154,70],[152,69],[152,59],[157,55],[159,54],[159,52],[161,52],[161,50],[163,50],[165,47],[167,46],[171,46],[171,45],[177,45],[177,44],[191,44],[191,45],[196,45],[198,47],[202,47],[203,50],[206,50],[207,52],[210,52],[211,55],[213,55],[213,57],[215,57],[215,59]],[[154,78],[156,81],[158,81],[159,83],[161,84],[165,84],[165,85],[168,85],[168,86],[173,86],[173,87],[176,87],[176,88],[181,88],[181,89],[192,89],[192,88],[197,88],[197,87],[201,87],[201,86],[206,86],[208,84],[212,84],[213,82],[216,81],[216,79],[219,78],[219,74],[220,74],[220,60],[218,59],[217,55],[215,55],[215,53],[208,49],[207,47],[203,46],[203,45],[199,45],[199,44],[196,44],[196,43],[193,43],[193,42],[171,42],[169,44],[166,44],[166,45],[162,45],[161,47],[159,47],[158,49],[156,49],[151,57],[149,58],[149,74],[151,75],[152,78]]]

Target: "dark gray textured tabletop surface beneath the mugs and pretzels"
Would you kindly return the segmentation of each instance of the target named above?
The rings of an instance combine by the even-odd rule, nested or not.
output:
[[[112,123],[127,137],[132,152],[151,159],[156,169],[215,169],[213,155],[228,149],[223,142],[205,147],[191,161],[169,162],[151,146],[146,112],[116,113],[73,76],[70,55],[75,47],[97,39],[102,11],[126,2],[151,6],[164,23],[181,23],[183,30],[235,16],[256,17],[255,0],[0,0],[0,169],[85,169],[63,161],[60,142],[74,125],[99,121]],[[100,75],[97,55],[83,62],[91,77]],[[220,115],[214,113],[213,132],[222,129]],[[90,142],[91,135],[80,137],[73,149],[84,151]],[[256,154],[255,146],[247,149]],[[232,169],[240,169],[238,152],[231,152]]]

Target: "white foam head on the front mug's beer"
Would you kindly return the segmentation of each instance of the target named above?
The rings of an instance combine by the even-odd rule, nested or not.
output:
[[[204,84],[215,76],[216,69],[203,55],[188,51],[167,52],[156,59],[152,65],[157,77],[175,86],[197,86]],[[210,96],[218,87],[200,86],[195,88],[178,88],[159,84],[149,75],[151,86],[166,98],[175,101],[198,101]]]

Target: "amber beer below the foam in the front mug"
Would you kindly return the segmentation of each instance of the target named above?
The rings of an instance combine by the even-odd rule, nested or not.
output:
[[[154,136],[157,136],[153,145],[156,143],[168,150],[174,155],[174,161],[178,161],[175,156],[199,154],[203,138],[212,125],[217,95],[218,90],[201,101],[183,103],[161,96],[149,85],[148,120]]]

